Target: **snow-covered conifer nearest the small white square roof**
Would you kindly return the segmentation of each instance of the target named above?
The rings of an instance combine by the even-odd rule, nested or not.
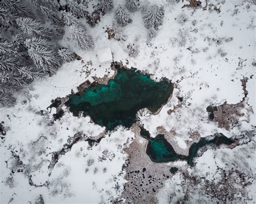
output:
[[[76,45],[83,50],[88,50],[94,47],[93,39],[87,33],[84,26],[71,25],[69,30],[69,38],[75,41]]]

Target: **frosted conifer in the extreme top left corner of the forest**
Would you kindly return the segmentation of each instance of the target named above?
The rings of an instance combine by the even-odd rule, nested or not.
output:
[[[32,17],[31,12],[26,9],[26,6],[19,0],[1,0],[4,8],[16,13],[19,16]]]

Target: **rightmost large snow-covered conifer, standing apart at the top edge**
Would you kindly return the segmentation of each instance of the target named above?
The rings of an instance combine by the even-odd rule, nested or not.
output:
[[[144,11],[144,24],[147,29],[158,29],[163,24],[164,6],[151,5]]]

